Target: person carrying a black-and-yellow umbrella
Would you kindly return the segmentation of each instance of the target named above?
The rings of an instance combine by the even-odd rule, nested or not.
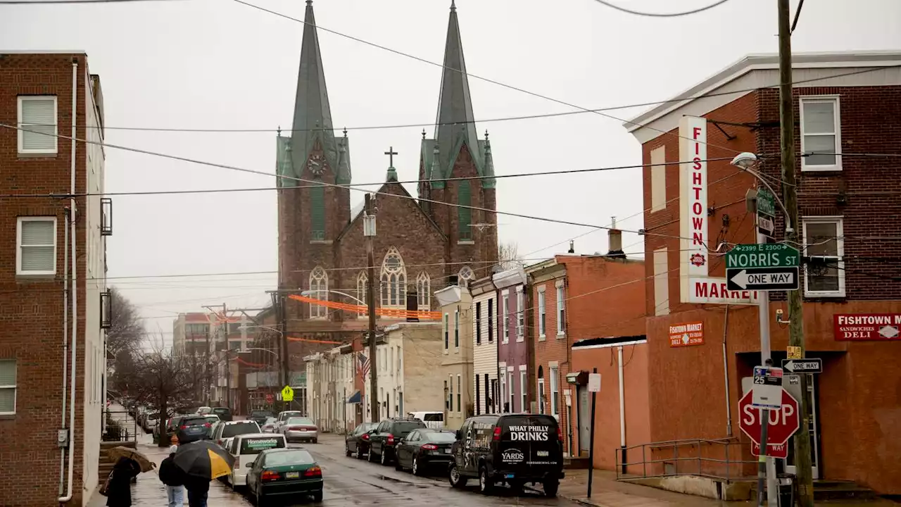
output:
[[[188,505],[206,507],[210,481],[232,473],[234,456],[210,440],[196,440],[178,446],[172,463],[185,474]]]

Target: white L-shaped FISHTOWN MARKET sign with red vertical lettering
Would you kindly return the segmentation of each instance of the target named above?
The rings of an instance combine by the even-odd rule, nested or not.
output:
[[[679,280],[685,303],[751,305],[756,290],[727,290],[725,278],[710,277],[710,253],[715,242],[707,233],[707,120],[682,116],[679,134]],[[713,245],[715,248],[715,244]]]

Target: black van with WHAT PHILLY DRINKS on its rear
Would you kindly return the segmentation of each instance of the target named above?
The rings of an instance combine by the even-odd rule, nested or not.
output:
[[[539,414],[484,415],[466,419],[451,447],[451,486],[462,488],[478,477],[490,494],[497,483],[520,490],[542,484],[545,496],[557,495],[563,478],[563,436],[557,419]]]

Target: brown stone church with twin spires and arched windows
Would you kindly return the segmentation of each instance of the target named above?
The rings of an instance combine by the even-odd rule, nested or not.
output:
[[[436,290],[486,276],[496,263],[494,161],[487,135],[478,139],[453,2],[443,65],[435,131],[430,139],[423,130],[418,175],[399,179],[391,163],[373,196],[380,309],[436,309]],[[282,294],[310,290],[318,300],[363,304],[368,280],[362,204],[350,208],[350,192],[362,192],[348,187],[350,139],[333,125],[308,0],[294,125],[289,136],[279,134],[277,140],[278,288]],[[364,156],[376,160],[376,155]],[[399,180],[419,180],[417,196]],[[334,346],[324,343],[349,343],[368,328],[368,318],[360,313],[283,301],[282,322],[295,337],[292,371],[303,368],[304,355]],[[379,317],[378,327],[396,321]]]

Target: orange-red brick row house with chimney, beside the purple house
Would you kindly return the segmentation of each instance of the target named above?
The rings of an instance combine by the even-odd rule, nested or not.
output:
[[[591,373],[597,367],[604,379],[604,389],[598,395],[603,409],[596,416],[596,466],[613,459],[621,434],[619,410],[614,409],[619,406],[619,361],[603,348],[621,349],[627,344],[629,373],[643,377],[640,383],[628,385],[628,396],[637,406],[644,407],[626,410],[628,424],[639,429],[647,427],[647,370],[642,368],[646,346],[641,343],[644,262],[625,258],[619,231],[610,231],[610,240],[611,252],[606,255],[557,255],[525,270],[532,300],[529,340],[535,351],[538,410],[560,421],[563,447],[569,456],[588,455],[591,424],[587,376],[569,373]],[[647,432],[628,434],[631,442],[636,434],[646,436]]]

